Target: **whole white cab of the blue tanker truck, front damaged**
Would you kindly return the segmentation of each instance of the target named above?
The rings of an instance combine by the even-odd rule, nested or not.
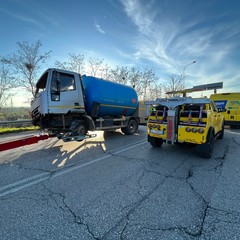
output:
[[[33,117],[41,114],[67,114],[84,112],[80,75],[64,70],[48,69],[36,84],[35,98],[31,104]]]

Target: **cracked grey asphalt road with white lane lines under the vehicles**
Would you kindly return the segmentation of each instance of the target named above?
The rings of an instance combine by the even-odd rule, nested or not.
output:
[[[0,152],[0,239],[240,239],[240,130],[212,159],[146,129]]]

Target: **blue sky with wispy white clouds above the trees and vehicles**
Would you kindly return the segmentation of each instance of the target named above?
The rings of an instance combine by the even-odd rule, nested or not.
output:
[[[0,56],[40,40],[45,68],[76,53],[151,67],[162,84],[185,71],[186,88],[240,92],[239,13],[238,0],[0,0]]]

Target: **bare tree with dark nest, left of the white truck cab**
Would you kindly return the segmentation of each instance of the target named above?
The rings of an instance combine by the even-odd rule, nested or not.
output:
[[[12,65],[16,74],[19,75],[19,85],[34,96],[38,70],[40,65],[49,57],[51,51],[42,53],[40,40],[33,44],[17,42],[17,46],[17,52],[11,57],[3,58],[2,61]]]

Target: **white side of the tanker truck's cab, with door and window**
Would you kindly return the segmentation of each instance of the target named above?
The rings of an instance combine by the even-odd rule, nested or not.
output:
[[[50,81],[49,112],[66,114],[84,112],[80,75],[54,70]]]

